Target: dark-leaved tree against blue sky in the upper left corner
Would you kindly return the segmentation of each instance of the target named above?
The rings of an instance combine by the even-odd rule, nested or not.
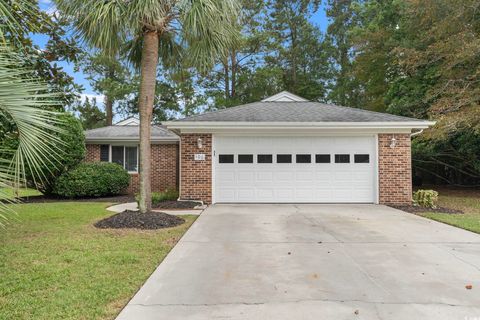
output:
[[[40,10],[34,0],[1,0],[0,7],[0,15],[11,18],[2,20],[5,27],[0,27],[0,40],[16,53],[19,67],[28,70],[30,77],[45,82],[45,89],[63,102],[55,106],[57,111],[63,111],[83,90],[58,65],[60,61],[76,63],[82,53],[75,39],[66,32],[66,20],[56,12]],[[13,20],[15,22],[9,22]],[[33,43],[34,33],[46,37],[43,48]]]

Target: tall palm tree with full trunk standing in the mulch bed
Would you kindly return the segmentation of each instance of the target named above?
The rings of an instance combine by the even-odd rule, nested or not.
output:
[[[150,126],[159,48],[178,41],[190,65],[200,71],[212,67],[235,41],[239,15],[236,0],[56,0],[80,36],[91,46],[115,55],[127,41],[141,43],[140,63],[140,200],[141,213],[151,209]],[[174,51],[161,51],[180,60]]]

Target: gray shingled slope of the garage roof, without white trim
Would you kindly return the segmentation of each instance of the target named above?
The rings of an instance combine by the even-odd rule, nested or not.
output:
[[[254,102],[176,121],[405,122],[423,121],[318,102]]]

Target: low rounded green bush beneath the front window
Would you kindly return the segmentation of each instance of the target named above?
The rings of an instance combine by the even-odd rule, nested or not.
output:
[[[130,175],[121,166],[108,162],[82,163],[62,174],[52,193],[66,198],[118,195],[130,183]]]

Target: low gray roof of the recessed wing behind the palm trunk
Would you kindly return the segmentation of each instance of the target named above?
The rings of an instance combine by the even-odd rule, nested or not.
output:
[[[176,140],[178,136],[164,126],[152,126],[152,140]],[[139,126],[108,126],[85,131],[86,140],[139,140]]]

